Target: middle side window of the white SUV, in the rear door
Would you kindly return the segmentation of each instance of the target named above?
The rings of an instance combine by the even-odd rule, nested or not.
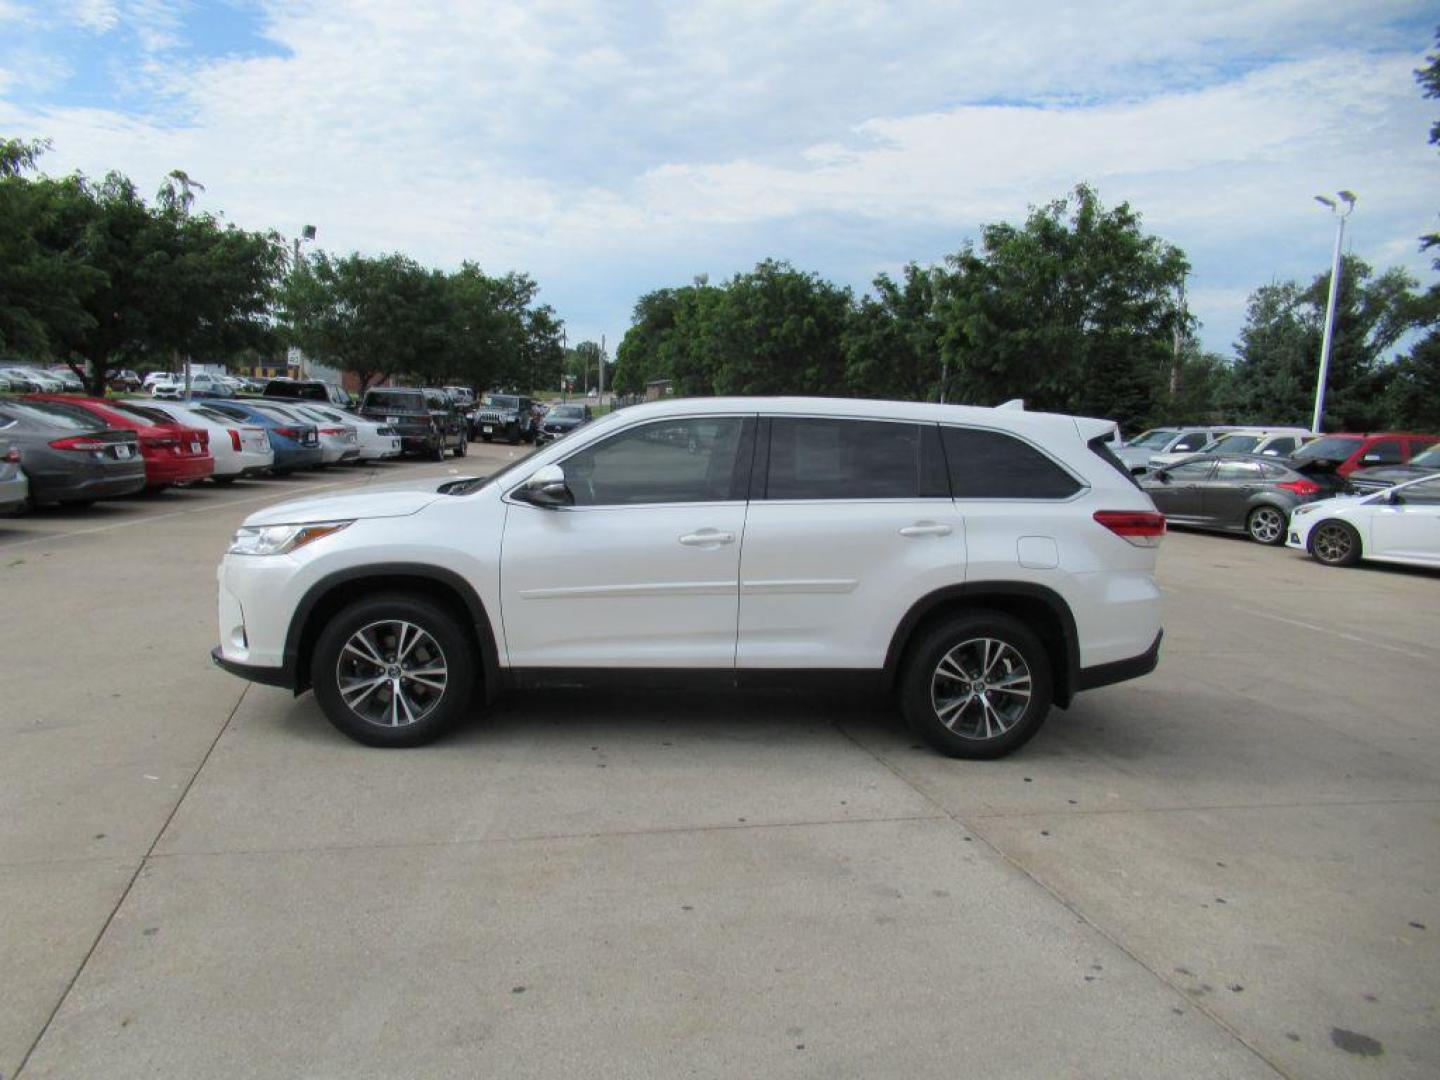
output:
[[[935,425],[776,418],[766,498],[945,498]]]

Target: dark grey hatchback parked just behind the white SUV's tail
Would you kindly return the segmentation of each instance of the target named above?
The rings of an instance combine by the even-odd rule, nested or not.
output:
[[[1283,544],[1290,511],[1335,490],[1259,454],[1201,454],[1139,484],[1166,521],[1247,533],[1261,544]]]

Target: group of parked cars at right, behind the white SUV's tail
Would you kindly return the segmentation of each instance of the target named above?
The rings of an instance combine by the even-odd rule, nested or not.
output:
[[[1440,436],[1158,428],[1117,456],[1174,524],[1289,544],[1331,566],[1440,566]]]

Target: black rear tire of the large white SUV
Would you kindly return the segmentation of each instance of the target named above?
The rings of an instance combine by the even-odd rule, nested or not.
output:
[[[958,615],[927,631],[900,674],[900,708],[910,729],[950,757],[1004,757],[1020,749],[1045,721],[1053,696],[1040,638],[1020,619],[992,611]]]

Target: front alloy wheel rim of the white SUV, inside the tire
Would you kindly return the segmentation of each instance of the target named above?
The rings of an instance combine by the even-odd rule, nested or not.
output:
[[[413,622],[386,619],[361,626],[336,661],[340,698],[380,727],[408,727],[445,696],[449,671],[439,642]]]

